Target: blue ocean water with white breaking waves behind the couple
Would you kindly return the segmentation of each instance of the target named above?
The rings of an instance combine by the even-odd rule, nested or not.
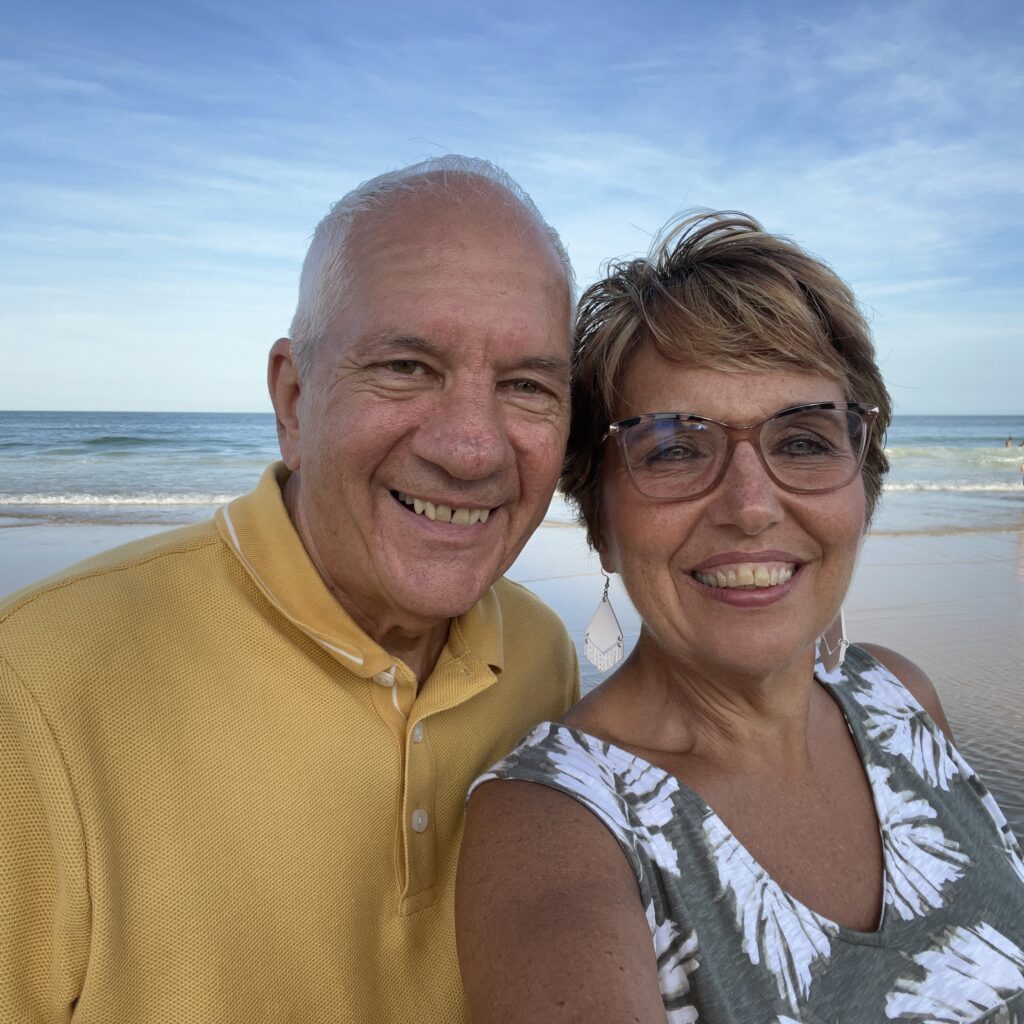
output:
[[[1024,416],[896,417],[872,531],[1019,528],[1022,439]],[[270,414],[0,412],[0,517],[194,522],[275,458]],[[571,513],[556,497],[549,517]]]

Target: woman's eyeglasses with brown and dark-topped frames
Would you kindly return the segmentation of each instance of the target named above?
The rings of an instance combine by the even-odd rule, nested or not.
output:
[[[860,472],[877,406],[816,401],[736,427],[688,413],[646,413],[608,427],[637,489],[648,498],[690,501],[718,486],[739,441],[754,445],[783,490],[822,494]]]

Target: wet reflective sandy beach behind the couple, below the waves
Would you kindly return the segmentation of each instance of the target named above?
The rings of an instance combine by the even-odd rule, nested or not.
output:
[[[156,524],[54,524],[0,518],[0,597]],[[509,573],[565,621],[582,649],[600,596],[583,531],[548,522]],[[612,581],[627,641],[635,612]],[[899,650],[932,677],[957,744],[1024,831],[1024,530],[872,535],[846,605],[854,641]],[[599,677],[584,664],[584,688]]]

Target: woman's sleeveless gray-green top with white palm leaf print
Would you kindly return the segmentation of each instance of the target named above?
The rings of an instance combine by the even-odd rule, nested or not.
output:
[[[1024,1024],[1024,863],[1006,818],[866,651],[816,677],[846,717],[879,816],[874,932],[790,896],[674,776],[566,726],[539,725],[474,787],[551,786],[609,829],[637,879],[670,1024]]]

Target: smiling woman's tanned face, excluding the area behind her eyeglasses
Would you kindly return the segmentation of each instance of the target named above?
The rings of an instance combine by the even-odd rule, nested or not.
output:
[[[844,398],[836,381],[815,373],[727,374],[647,347],[626,373],[615,418],[692,413],[744,425],[790,406]],[[673,660],[742,675],[806,656],[853,573],[864,531],[860,475],[828,494],[790,494],[742,440],[714,490],[666,501],[640,494],[617,442],[605,444],[601,560],[622,574],[657,646]],[[779,582],[752,585],[752,575],[764,583],[766,573]]]

